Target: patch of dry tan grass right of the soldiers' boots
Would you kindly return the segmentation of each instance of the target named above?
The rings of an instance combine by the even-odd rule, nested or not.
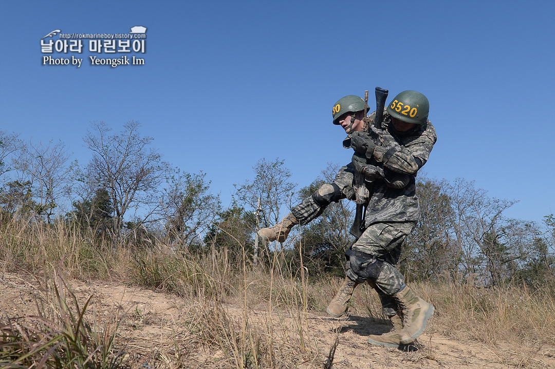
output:
[[[555,294],[552,289],[532,291],[526,286],[478,288],[442,283],[422,285],[424,294],[438,306],[442,334],[498,342],[555,344]]]

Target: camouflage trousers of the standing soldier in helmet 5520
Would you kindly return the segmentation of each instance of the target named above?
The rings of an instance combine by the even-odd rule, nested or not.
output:
[[[397,303],[391,297],[405,283],[396,265],[401,247],[416,222],[385,222],[371,224],[347,250],[346,274],[358,283],[367,281],[380,296],[387,316],[397,314]]]

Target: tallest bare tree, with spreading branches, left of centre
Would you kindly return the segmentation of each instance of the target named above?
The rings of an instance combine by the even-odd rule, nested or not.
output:
[[[91,124],[83,138],[93,151],[87,166],[87,180],[94,186],[108,189],[114,207],[114,227],[120,229],[130,208],[142,207],[144,222],[159,206],[155,191],[169,173],[168,163],[154,148],[153,138],[140,136],[139,123],[130,121],[124,130],[110,135],[104,122]]]

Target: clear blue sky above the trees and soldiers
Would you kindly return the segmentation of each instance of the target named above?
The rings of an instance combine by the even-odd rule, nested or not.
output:
[[[260,159],[306,186],[347,163],[331,107],[381,86],[430,100],[428,177],[476,181],[518,200],[506,216],[555,212],[555,1],[0,2],[0,126],[62,140],[84,165],[92,121],[141,122],[164,159],[204,171],[229,204]],[[41,65],[41,38],[147,27],[140,66]],[[52,38],[57,40],[58,36]],[[120,57],[116,54],[113,57]],[[370,104],[372,106],[372,103]]]

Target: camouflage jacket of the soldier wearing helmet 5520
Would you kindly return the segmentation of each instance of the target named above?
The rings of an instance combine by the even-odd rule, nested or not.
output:
[[[372,119],[372,114],[369,117]],[[428,160],[436,143],[436,130],[428,120],[427,124],[418,126],[414,131],[398,134],[391,127],[391,117],[384,114],[382,126],[371,124],[369,133],[379,145],[369,163],[383,167],[384,171],[405,173],[410,180],[406,187],[399,189],[387,186],[387,182],[380,179],[367,183],[370,198],[365,227],[376,222],[417,221],[420,207],[416,197],[416,174]]]

